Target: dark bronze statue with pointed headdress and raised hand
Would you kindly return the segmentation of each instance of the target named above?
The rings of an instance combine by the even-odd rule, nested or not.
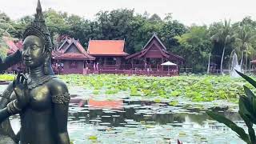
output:
[[[14,61],[8,57],[9,60],[0,63],[4,70],[22,59],[27,68],[27,74],[19,73],[0,95],[0,129],[21,144],[66,144],[70,143],[67,132],[70,94],[51,68],[52,42],[39,0],[36,10],[34,22],[23,34],[22,53],[11,56]],[[17,135],[8,119],[13,114],[21,118]]]

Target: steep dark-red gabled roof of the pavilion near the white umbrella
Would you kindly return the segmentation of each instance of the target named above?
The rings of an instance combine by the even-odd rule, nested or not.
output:
[[[166,50],[166,46],[163,45],[163,43],[161,42],[160,38],[158,38],[157,34],[155,34],[155,33],[150,38],[150,40],[148,42],[146,42],[146,45],[142,48],[141,51],[139,51],[139,52],[137,52],[135,54],[131,54],[131,55],[127,56],[126,59],[129,59],[129,58],[142,58],[150,50],[150,43],[154,40],[154,38],[160,44],[161,48],[159,48],[158,50],[161,52],[163,57],[165,57],[165,58],[175,58],[175,59],[178,59],[180,61],[184,61],[184,58],[182,58],[181,56],[178,56],[176,54],[172,54],[172,53],[168,52]]]

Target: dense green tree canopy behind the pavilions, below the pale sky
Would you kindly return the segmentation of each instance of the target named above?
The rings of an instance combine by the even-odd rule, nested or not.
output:
[[[224,69],[227,68],[231,52],[235,51],[240,59],[245,60],[255,56],[256,22],[250,17],[233,24],[224,21],[213,22],[210,26],[185,26],[173,19],[172,14],[161,18],[158,14],[147,12],[135,14],[129,9],[99,11],[94,20],[53,9],[43,13],[55,46],[65,36],[78,39],[85,48],[90,39],[125,39],[126,52],[134,54],[142,50],[156,33],[168,51],[186,59],[183,66],[193,68],[193,72],[206,71],[210,54],[210,62],[217,64],[218,69],[221,63]],[[6,14],[0,13],[0,37],[9,35],[21,39],[33,17],[27,15],[12,21]],[[246,51],[248,58],[242,56],[242,51]]]

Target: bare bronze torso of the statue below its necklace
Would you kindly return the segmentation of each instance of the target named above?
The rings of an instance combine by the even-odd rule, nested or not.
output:
[[[52,102],[51,90],[57,89],[58,86],[65,85],[57,78],[51,79],[42,86],[37,86],[30,90],[30,103],[20,113],[21,131],[20,143],[36,144],[55,144],[57,140],[54,134],[56,125],[54,124],[54,109]],[[12,93],[11,99],[15,98]]]

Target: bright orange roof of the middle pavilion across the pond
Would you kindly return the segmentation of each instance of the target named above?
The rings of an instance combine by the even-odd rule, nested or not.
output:
[[[90,40],[88,54],[94,56],[126,56],[124,40]]]

